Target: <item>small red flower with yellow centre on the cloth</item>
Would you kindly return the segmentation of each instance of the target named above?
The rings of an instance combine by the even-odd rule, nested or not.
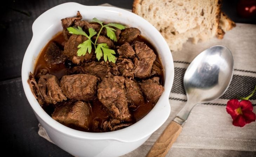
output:
[[[252,112],[253,107],[249,100],[241,102],[237,99],[229,100],[226,109],[233,119],[234,126],[243,127],[245,124],[255,121],[256,116]]]

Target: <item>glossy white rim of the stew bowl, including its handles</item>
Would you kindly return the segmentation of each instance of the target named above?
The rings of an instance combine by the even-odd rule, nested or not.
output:
[[[66,127],[59,122],[55,121],[53,118],[51,118],[39,105],[37,100],[35,99],[34,95],[32,94],[31,89],[28,85],[28,61],[31,60],[31,54],[34,54],[36,50],[33,48],[33,45],[36,45],[37,39],[40,38],[40,35],[43,35],[43,33],[47,32],[49,28],[43,28],[41,32],[37,32],[38,27],[41,27],[40,25],[46,18],[50,18],[53,13],[58,12],[58,10],[63,9],[72,9],[72,10],[82,10],[82,9],[92,9],[92,10],[102,10],[103,12],[112,12],[113,14],[118,14],[120,16],[129,16],[130,18],[137,19],[138,21],[145,23],[147,25],[147,29],[150,29],[150,32],[155,33],[156,37],[159,39],[159,42],[162,42],[162,48],[164,51],[167,51],[164,53],[164,57],[161,58],[162,62],[165,61],[165,69],[164,69],[164,92],[161,95],[160,99],[156,103],[156,105],[153,107],[153,109],[141,120],[137,121],[135,124],[116,130],[113,132],[104,132],[104,133],[91,133],[91,132],[82,132],[79,130],[71,129],[69,127]],[[81,11],[80,11],[81,12]],[[63,16],[68,17],[68,16]],[[22,77],[22,85],[23,89],[25,91],[25,95],[28,99],[29,104],[31,105],[34,113],[37,115],[36,117],[40,118],[44,122],[46,122],[51,128],[54,128],[61,134],[65,134],[68,136],[71,136],[73,138],[78,139],[91,139],[91,140],[116,140],[120,142],[135,142],[138,140],[141,140],[149,135],[151,135],[153,132],[155,132],[169,117],[170,114],[170,104],[169,104],[169,94],[171,91],[171,87],[174,80],[174,63],[173,58],[170,52],[170,49],[168,47],[168,44],[162,37],[159,31],[151,25],[149,22],[144,20],[142,17],[129,12],[124,9],[116,8],[116,7],[108,7],[108,6],[85,6],[81,5],[79,3],[75,2],[67,2],[62,3],[58,6],[55,6],[53,8],[50,8],[43,14],[41,14],[36,20],[34,21],[32,25],[32,31],[33,31],[33,37],[31,39],[31,42],[28,45],[28,48],[25,52],[23,61],[22,61],[22,70],[21,70],[21,77]],[[52,38],[52,37],[51,37]],[[42,46],[42,48],[45,45]],[[36,46],[35,46],[36,47]],[[39,50],[37,50],[39,51]],[[40,50],[41,52],[41,50]],[[168,59],[168,60],[167,60]],[[33,62],[33,59],[32,59]],[[31,67],[30,67],[31,68]],[[33,67],[34,68],[34,67]],[[160,105],[161,104],[161,105]],[[155,118],[158,117],[158,118]],[[153,123],[154,125],[149,126],[149,122]],[[125,136],[124,136],[125,135]]]

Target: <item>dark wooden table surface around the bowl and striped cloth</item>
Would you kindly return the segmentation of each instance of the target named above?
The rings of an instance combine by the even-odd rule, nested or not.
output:
[[[32,23],[46,10],[68,0],[12,0],[1,4],[0,126],[3,151],[8,156],[72,156],[38,135],[38,121],[21,82],[21,65],[32,38]],[[133,0],[74,0],[83,5],[111,5],[131,9]],[[222,9],[235,22],[255,24],[255,17],[240,18],[237,0],[224,0]]]

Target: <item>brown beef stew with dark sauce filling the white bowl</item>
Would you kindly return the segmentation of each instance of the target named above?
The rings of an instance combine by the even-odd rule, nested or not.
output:
[[[109,132],[130,126],[153,109],[163,88],[163,68],[154,47],[137,28],[116,29],[117,41],[106,30],[97,43],[116,54],[114,62],[97,60],[95,48],[78,56],[88,38],[70,34],[68,27],[88,32],[98,23],[77,17],[61,20],[57,33],[40,52],[28,83],[42,108],[56,121],[86,132]],[[95,41],[96,38],[91,38]]]

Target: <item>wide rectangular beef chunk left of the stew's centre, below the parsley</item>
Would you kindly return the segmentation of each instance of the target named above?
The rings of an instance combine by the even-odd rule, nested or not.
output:
[[[69,99],[94,100],[97,77],[87,74],[65,75],[61,78],[60,87]]]

